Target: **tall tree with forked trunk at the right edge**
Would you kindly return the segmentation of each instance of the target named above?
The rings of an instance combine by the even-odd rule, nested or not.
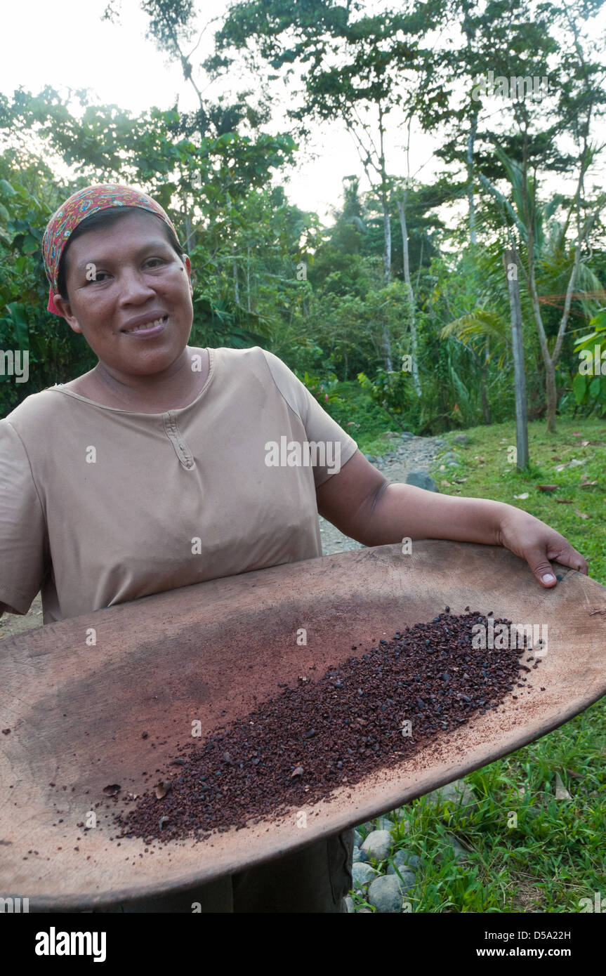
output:
[[[443,158],[463,160],[484,189],[503,207],[507,243],[522,255],[520,270],[532,300],[545,369],[547,430],[555,429],[557,390],[555,369],[570,317],[572,296],[579,280],[581,264],[591,229],[604,204],[600,192],[593,199],[586,194],[586,177],[595,162],[598,146],[591,143],[594,119],[606,110],[603,90],[603,59],[598,45],[583,33],[583,26],[603,6],[603,0],[585,0],[574,6],[522,0],[489,0],[480,12],[468,0],[454,0],[453,11],[463,15],[465,44],[440,58],[442,74],[457,63],[459,77],[468,79],[464,104],[453,113],[453,139],[440,153]],[[486,75],[491,65],[492,75]],[[540,90],[536,84],[557,77],[555,93]],[[479,83],[478,83],[479,82]],[[532,92],[529,92],[529,82]],[[452,82],[451,82],[452,89]],[[482,109],[494,93],[506,95],[497,115],[502,122],[496,131],[491,116]],[[435,123],[435,112],[423,116],[425,128]],[[510,129],[507,131],[506,123]],[[568,137],[576,151],[563,147]],[[486,148],[475,152],[480,142]],[[474,154],[475,153],[475,154]],[[552,339],[545,332],[537,266],[541,242],[537,240],[540,203],[537,195],[539,174],[576,170],[577,185],[568,200],[564,224],[574,225],[574,251],[571,254],[565,301],[557,333]],[[496,183],[508,180],[513,204],[505,200]],[[563,201],[562,201],[563,202]],[[469,226],[475,230],[475,208],[469,193]],[[474,232],[471,234],[474,238]]]

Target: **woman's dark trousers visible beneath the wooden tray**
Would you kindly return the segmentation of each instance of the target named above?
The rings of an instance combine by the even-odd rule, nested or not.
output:
[[[345,913],[353,830],[316,840],[267,864],[225,874],[178,895],[124,902],[97,912]]]

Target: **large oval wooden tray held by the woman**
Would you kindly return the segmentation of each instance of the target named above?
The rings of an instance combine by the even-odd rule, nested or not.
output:
[[[413,550],[382,546],[274,566],[1,641],[0,728],[11,729],[0,736],[3,896],[28,897],[30,911],[74,912],[186,890],[449,783],[606,692],[605,588],[555,564],[561,582],[544,590],[523,560],[499,547],[425,541]],[[192,719],[201,719],[206,735],[275,695],[278,682],[319,677],[349,657],[352,644],[362,654],[446,605],[462,613],[467,604],[513,623],[547,625],[536,690],[444,733],[401,767],[310,806],[305,829],[293,810],[197,844],[173,841],[133,864],[127,857],[142,842],[110,841],[109,811],[99,813],[96,830],[76,826],[106,800],[108,784],[132,779],[129,789],[141,793],[141,772],[164,768],[176,742],[190,736]],[[307,630],[306,646],[297,643],[299,628]]]

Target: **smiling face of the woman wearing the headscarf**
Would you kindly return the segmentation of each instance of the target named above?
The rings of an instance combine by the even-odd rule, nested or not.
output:
[[[157,218],[133,208],[76,238],[65,258],[69,302],[56,296],[55,304],[104,365],[145,376],[179,358],[193,321],[191,264]]]

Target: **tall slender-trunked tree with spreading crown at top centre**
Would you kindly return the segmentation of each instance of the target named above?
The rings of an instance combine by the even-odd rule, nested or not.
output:
[[[429,62],[429,52],[420,49],[420,38],[435,22],[438,9],[438,5],[425,4],[424,20],[414,10],[356,17],[357,4],[343,7],[329,0],[313,4],[300,0],[286,5],[284,0],[252,0],[234,5],[216,35],[221,56],[218,54],[215,63],[224,67],[230,64],[225,47],[246,51],[249,60],[261,58],[276,70],[297,63],[302,71],[303,104],[289,115],[303,123],[303,132],[310,119],[343,121],[381,201],[385,286],[391,279],[387,120],[395,108],[402,108],[406,119],[408,106],[417,103],[407,89],[419,86],[421,71]],[[391,371],[386,331],[384,363],[387,372]]]

